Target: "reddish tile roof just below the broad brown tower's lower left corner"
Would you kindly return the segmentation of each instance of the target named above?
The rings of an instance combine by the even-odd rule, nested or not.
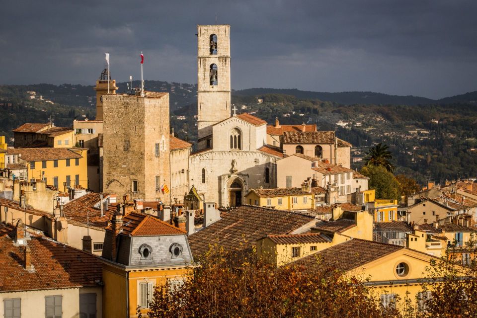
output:
[[[107,222],[116,213],[116,208],[109,206],[109,209],[103,209],[103,216],[101,217],[101,209],[99,207],[100,195],[100,193],[87,193],[65,204],[63,213],[68,218],[68,222],[74,221],[82,226],[86,226],[89,214],[90,227],[106,228]],[[103,193],[103,199],[108,197],[108,193]]]

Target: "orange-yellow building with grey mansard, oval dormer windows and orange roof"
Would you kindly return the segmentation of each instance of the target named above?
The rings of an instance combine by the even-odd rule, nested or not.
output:
[[[177,227],[151,215],[131,212],[115,215],[106,228],[103,252],[103,318],[143,317],[149,311],[154,287],[169,280],[180,285],[192,274],[192,252],[185,217]]]

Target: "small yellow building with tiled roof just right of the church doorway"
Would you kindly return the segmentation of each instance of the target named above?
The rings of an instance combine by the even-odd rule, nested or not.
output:
[[[318,189],[318,190],[317,190]],[[308,210],[315,208],[315,192],[322,188],[305,191],[300,188],[252,189],[245,195],[246,204],[277,210]],[[322,189],[324,193],[324,189]]]

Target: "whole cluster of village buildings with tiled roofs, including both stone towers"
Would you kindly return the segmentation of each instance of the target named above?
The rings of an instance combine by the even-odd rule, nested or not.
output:
[[[334,131],[239,113],[230,37],[197,26],[195,144],[170,129],[167,92],[117,93],[107,69],[95,119],[0,137],[4,317],[147,315],[154,287],[191,278],[212,240],[274,266],[359,271],[384,307],[415,299],[438,257],[471,264],[474,182],[376,198]]]

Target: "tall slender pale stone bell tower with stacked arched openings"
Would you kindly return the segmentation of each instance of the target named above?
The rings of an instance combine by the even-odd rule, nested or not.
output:
[[[198,148],[212,146],[212,125],[230,117],[230,25],[197,25]]]

